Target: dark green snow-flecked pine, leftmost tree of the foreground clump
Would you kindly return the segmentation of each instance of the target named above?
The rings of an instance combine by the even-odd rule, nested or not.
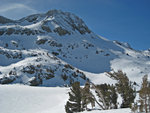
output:
[[[83,108],[81,106],[81,88],[80,82],[74,82],[69,92],[69,101],[65,105],[66,113],[81,112]]]

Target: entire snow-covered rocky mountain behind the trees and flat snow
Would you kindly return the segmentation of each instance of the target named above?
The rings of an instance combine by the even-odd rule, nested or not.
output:
[[[60,10],[20,20],[0,17],[0,83],[63,86],[123,70],[140,83],[150,73],[150,52],[110,41],[92,32],[82,19]],[[104,73],[105,75],[105,73]]]

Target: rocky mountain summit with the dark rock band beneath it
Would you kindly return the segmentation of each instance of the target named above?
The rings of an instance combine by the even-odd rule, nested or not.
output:
[[[13,22],[5,18],[0,20],[6,24]],[[6,31],[7,28],[9,28],[9,33]],[[59,36],[91,33],[82,19],[72,13],[61,10],[50,10],[45,14],[34,14],[24,17],[14,21],[14,25],[1,26],[0,31],[2,32],[0,35],[17,34],[18,31],[26,35],[55,33]]]

